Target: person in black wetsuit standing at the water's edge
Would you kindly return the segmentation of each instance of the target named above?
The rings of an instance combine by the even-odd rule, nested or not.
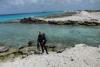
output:
[[[39,49],[39,47],[41,46],[42,53],[44,53],[44,50],[45,50],[46,53],[48,54],[47,48],[45,46],[47,40],[46,40],[46,37],[45,37],[45,34],[44,33],[39,32],[37,42],[38,42],[37,43],[37,49]]]

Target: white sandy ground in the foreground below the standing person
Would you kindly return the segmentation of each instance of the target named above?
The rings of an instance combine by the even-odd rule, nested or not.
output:
[[[0,67],[100,67],[100,47],[78,44],[66,48],[61,53],[31,54],[26,58],[16,58],[0,62]]]

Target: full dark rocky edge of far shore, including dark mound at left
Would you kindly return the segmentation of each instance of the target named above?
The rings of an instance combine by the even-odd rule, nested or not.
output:
[[[23,18],[19,20],[7,21],[7,23],[25,23],[25,24],[54,24],[54,25],[85,25],[85,26],[98,26],[100,22],[97,19],[90,20],[46,20],[45,18]]]

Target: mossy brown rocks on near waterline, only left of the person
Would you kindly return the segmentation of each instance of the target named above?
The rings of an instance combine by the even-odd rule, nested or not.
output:
[[[25,58],[28,55],[31,55],[36,50],[36,47],[33,45],[34,41],[29,41],[26,46],[20,48],[9,48],[6,46],[0,46],[0,60],[12,59],[15,57]]]

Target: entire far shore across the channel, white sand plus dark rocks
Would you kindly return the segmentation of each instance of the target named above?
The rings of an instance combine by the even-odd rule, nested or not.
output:
[[[29,17],[11,20],[7,21],[7,23],[99,26],[100,12],[81,11],[76,13],[67,13],[67,15],[66,13],[62,13],[47,17]]]

